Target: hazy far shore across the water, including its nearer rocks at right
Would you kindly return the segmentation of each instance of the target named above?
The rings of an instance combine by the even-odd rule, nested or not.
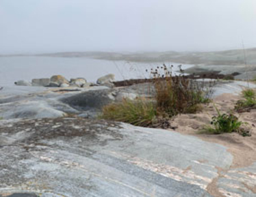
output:
[[[241,74],[237,79],[244,80],[246,72],[250,78],[256,76],[256,48],[244,50],[224,50],[216,52],[55,52],[34,55],[0,55],[1,57],[60,57],[60,58],[89,58],[106,61],[127,61],[134,63],[179,63],[194,65],[186,70],[188,74],[203,72],[218,72],[219,74]]]

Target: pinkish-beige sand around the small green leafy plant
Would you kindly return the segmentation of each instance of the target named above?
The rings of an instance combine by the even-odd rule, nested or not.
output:
[[[214,104],[220,112],[228,113],[234,109],[235,102],[242,99],[238,95],[229,93],[222,94],[214,99]],[[177,127],[176,132],[196,136],[207,142],[214,142],[224,145],[233,155],[233,164],[231,168],[240,168],[250,166],[256,162],[256,110],[234,114],[239,117],[240,121],[246,121],[251,126],[250,137],[243,137],[240,134],[199,134],[199,130],[204,125],[209,125],[212,117],[217,115],[214,104],[204,106],[202,112],[193,115],[179,115],[171,121],[172,127]],[[203,149],[203,147],[202,147]]]

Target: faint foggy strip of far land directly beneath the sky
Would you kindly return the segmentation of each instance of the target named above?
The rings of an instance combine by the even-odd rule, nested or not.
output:
[[[214,52],[53,52],[42,54],[0,55],[0,57],[89,57],[109,61],[131,61],[140,63],[174,62],[193,65],[244,65],[244,50]],[[256,65],[256,48],[246,49],[246,61]]]

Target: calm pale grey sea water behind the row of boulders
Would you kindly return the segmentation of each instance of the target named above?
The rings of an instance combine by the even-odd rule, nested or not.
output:
[[[171,65],[172,63],[166,63]],[[67,79],[83,77],[89,82],[105,74],[115,74],[116,80],[146,78],[145,70],[155,68],[162,63],[131,63],[127,61],[105,61],[88,58],[62,57],[0,57],[0,86],[13,86],[17,80],[32,78],[50,78],[61,74]],[[178,70],[179,63],[173,63]],[[182,65],[183,69],[192,65]]]

